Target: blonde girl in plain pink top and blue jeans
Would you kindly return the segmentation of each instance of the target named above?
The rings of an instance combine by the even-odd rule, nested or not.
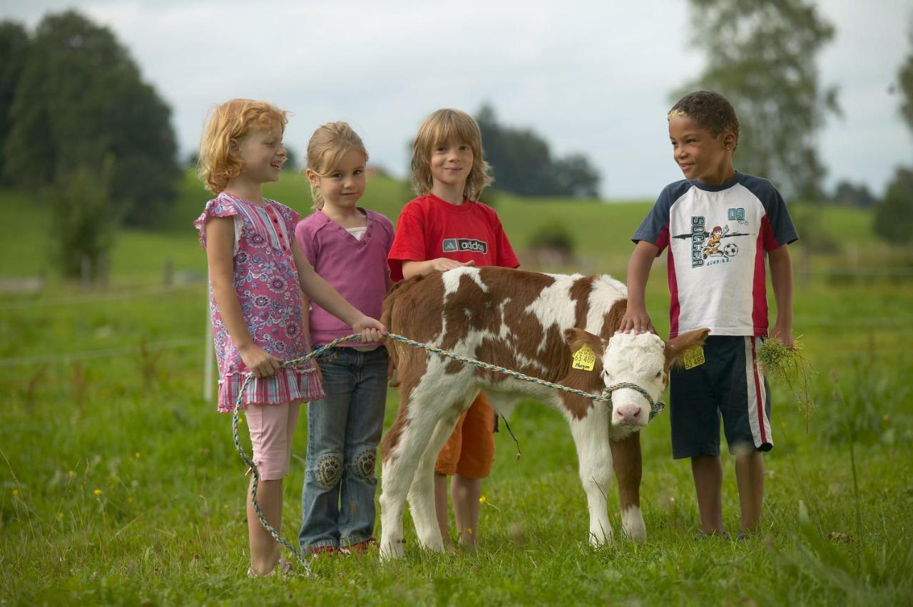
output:
[[[379,316],[391,284],[386,259],[394,226],[357,206],[368,161],[362,139],[345,122],[331,122],[314,131],[307,156],[314,212],[299,222],[295,239],[320,276],[362,313]],[[310,306],[309,328],[315,346],[350,333],[319,302]],[[342,343],[318,362],[326,396],[308,406],[299,543],[314,555],[362,553],[377,543],[374,463],[386,404],[387,351],[380,342]]]

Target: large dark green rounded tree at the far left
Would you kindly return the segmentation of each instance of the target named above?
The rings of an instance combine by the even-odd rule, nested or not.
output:
[[[110,211],[133,224],[173,200],[170,109],[110,30],[75,11],[37,26],[8,118],[4,170],[17,185],[61,190],[94,171],[109,180]]]

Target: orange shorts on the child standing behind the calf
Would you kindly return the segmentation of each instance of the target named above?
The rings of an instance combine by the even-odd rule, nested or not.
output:
[[[487,478],[495,461],[495,411],[479,394],[459,417],[453,434],[437,454],[435,472],[466,478]]]

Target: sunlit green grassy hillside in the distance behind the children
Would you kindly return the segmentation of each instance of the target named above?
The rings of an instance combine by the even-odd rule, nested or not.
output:
[[[268,184],[265,194],[288,204],[303,215],[311,211],[310,194],[303,175],[286,171],[278,183]],[[368,180],[362,206],[382,212],[394,222],[403,205],[414,194],[407,183],[388,176],[375,175]],[[110,273],[116,282],[142,283],[161,276],[166,258],[174,269],[205,273],[205,255],[200,250],[192,223],[203,210],[205,201],[212,198],[205,191],[194,170],[186,170],[181,181],[179,199],[155,231],[121,231],[110,260]],[[543,227],[561,226],[571,234],[575,252],[583,260],[581,267],[557,268],[564,271],[612,273],[624,277],[628,256],[633,244],[631,234],[649,211],[652,201],[615,201],[593,203],[579,199],[527,199],[497,190],[488,190],[483,201],[493,203],[517,249],[520,261],[530,266],[532,258],[526,252],[533,244],[530,239]],[[33,276],[47,273],[54,276],[47,255],[49,216],[39,201],[18,190],[0,190],[0,209],[6,221],[12,222],[4,243],[5,254],[0,256],[0,276]],[[887,245],[877,241],[871,229],[867,211],[813,205],[792,205],[799,224],[800,235],[826,234],[837,249],[821,258],[831,267],[842,267],[843,252],[856,259],[873,260],[889,254]],[[808,223],[813,219],[814,224]],[[808,239],[811,240],[811,239]],[[803,251],[803,241],[792,245],[793,254]],[[895,254],[895,253],[891,253]],[[819,259],[818,257],[815,258]],[[826,261],[830,260],[830,261]],[[549,268],[555,270],[556,268]],[[660,279],[662,280],[662,279]]]

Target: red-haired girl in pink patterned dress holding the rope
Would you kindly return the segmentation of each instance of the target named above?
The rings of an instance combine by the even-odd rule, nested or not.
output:
[[[362,314],[314,273],[291,238],[299,214],[263,198],[286,161],[286,112],[263,101],[233,99],[217,108],[200,141],[200,174],[215,199],[194,221],[209,263],[210,310],[219,362],[219,411],[231,412],[247,375],[247,426],[260,477],[257,501],[282,528],[282,479],[289,473],[292,433],[301,401],[322,396],[310,363],[280,367],[307,354],[301,291],[376,342],[383,324]],[[257,519],[247,490],[248,575],[269,575],[279,544]],[[280,569],[287,571],[288,563]]]

